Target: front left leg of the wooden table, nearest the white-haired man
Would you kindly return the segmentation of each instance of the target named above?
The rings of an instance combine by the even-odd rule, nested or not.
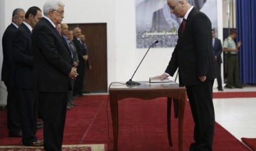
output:
[[[118,149],[118,103],[117,103],[116,94],[110,94],[110,108],[111,108],[111,115],[112,115],[114,151],[117,151]]]

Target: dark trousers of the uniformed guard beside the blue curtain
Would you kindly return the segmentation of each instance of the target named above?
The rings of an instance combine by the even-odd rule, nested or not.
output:
[[[228,55],[227,57],[227,84],[240,85],[239,79],[239,61],[237,55]]]

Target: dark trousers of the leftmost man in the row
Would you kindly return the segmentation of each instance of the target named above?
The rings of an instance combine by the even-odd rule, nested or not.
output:
[[[15,89],[8,82],[4,82],[7,87],[7,127],[9,132],[18,133],[21,131],[20,126],[20,111],[18,97]]]

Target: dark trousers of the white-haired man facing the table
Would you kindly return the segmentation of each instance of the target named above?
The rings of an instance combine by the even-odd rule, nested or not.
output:
[[[62,150],[68,92],[39,92],[39,112],[43,120],[43,148]]]

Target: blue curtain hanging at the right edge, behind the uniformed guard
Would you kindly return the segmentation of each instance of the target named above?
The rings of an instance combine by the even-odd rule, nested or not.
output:
[[[241,83],[256,84],[256,1],[236,0],[237,40]]]

